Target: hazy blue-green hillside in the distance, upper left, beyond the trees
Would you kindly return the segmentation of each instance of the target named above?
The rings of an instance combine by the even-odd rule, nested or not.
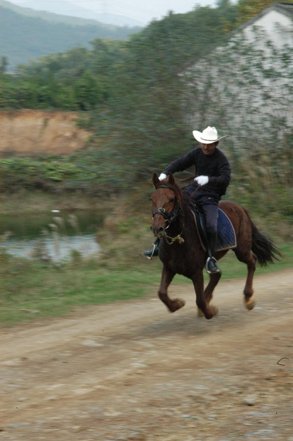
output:
[[[64,52],[81,46],[89,47],[89,42],[96,38],[126,39],[129,34],[139,30],[95,21],[89,21],[89,24],[84,25],[86,20],[73,17],[68,19],[80,20],[83,24],[57,23],[20,14],[6,7],[5,3],[8,2],[0,2],[0,57],[8,58],[8,71],[13,71],[19,64],[52,52]]]

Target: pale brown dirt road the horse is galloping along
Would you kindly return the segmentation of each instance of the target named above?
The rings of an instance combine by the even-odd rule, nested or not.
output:
[[[174,314],[154,291],[2,330],[0,440],[293,441],[292,286],[256,276],[247,311],[220,282],[212,320],[188,284]]]

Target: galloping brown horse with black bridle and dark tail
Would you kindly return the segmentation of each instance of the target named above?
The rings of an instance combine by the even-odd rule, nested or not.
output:
[[[210,305],[213,291],[220,280],[221,273],[210,275],[210,281],[204,290],[203,268],[207,254],[202,250],[195,221],[191,212],[190,196],[175,183],[172,174],[159,181],[154,173],[152,183],[155,187],[151,195],[153,220],[151,230],[155,237],[162,239],[159,258],[163,262],[161,285],[158,295],[169,311],[174,312],[185,305],[184,300],[171,299],[168,287],[175,274],[182,274],[193,281],[198,313],[206,319],[214,317],[218,310]],[[247,309],[255,305],[252,299],[252,279],[258,260],[261,266],[279,260],[282,254],[264,236],[250,220],[247,210],[228,200],[220,201],[220,208],[233,224],[237,246],[233,249],[237,259],[247,265],[247,278],[244,287],[244,304]],[[219,260],[228,250],[216,253]]]

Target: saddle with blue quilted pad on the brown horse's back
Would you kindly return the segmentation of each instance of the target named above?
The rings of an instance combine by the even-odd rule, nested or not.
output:
[[[195,228],[197,231],[200,246],[203,251],[207,249],[207,231],[203,211],[193,204],[191,212],[195,220]],[[216,251],[223,251],[237,246],[236,235],[232,222],[220,208],[218,208],[218,240]]]

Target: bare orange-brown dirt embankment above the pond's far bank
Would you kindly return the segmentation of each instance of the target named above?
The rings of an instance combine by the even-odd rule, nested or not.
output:
[[[0,111],[0,155],[70,154],[90,132],[76,127],[75,112]]]

